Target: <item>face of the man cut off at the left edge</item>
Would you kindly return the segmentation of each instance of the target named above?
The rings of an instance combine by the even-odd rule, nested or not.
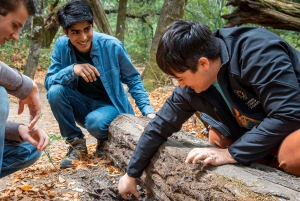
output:
[[[18,40],[22,26],[28,18],[28,12],[23,4],[6,16],[0,15],[0,44],[3,45],[9,40]]]

